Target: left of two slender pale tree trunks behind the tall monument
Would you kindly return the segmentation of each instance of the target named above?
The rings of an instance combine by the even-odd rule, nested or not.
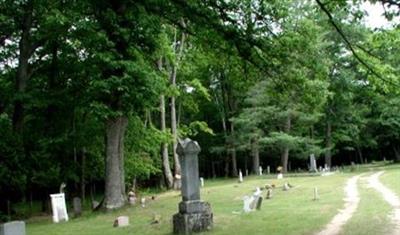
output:
[[[160,112],[161,112],[161,132],[166,132],[166,125],[165,125],[165,98],[164,95],[160,96]],[[171,172],[171,167],[169,165],[169,158],[168,158],[168,144],[161,143],[161,154],[162,154],[162,166],[163,166],[163,173],[165,178],[165,184],[167,188],[172,188],[173,186],[173,176]]]

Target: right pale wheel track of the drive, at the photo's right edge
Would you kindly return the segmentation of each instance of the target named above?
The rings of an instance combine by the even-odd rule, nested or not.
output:
[[[383,199],[393,207],[393,214],[390,216],[391,220],[394,224],[393,228],[393,235],[399,235],[400,234],[400,198],[389,188],[387,188],[385,185],[383,185],[379,181],[379,176],[381,176],[384,172],[380,171],[377,172],[370,177],[368,177],[368,184],[370,187],[374,188],[376,191],[378,191]]]

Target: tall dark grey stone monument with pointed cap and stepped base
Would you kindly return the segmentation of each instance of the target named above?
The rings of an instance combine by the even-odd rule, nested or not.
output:
[[[200,146],[196,141],[179,141],[177,153],[182,171],[182,202],[179,212],[173,216],[174,233],[191,234],[210,230],[213,214],[209,203],[200,200],[198,153]]]

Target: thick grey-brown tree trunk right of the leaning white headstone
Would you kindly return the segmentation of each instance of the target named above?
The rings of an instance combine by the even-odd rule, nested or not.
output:
[[[124,134],[128,125],[126,117],[110,118],[106,123],[106,178],[105,209],[125,205]]]

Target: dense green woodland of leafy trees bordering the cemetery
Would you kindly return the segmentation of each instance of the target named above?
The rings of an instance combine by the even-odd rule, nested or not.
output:
[[[135,182],[179,188],[183,137],[205,177],[400,161],[400,6],[382,3],[393,26],[373,30],[361,1],[1,0],[1,211],[46,210],[62,182],[107,209]]]

